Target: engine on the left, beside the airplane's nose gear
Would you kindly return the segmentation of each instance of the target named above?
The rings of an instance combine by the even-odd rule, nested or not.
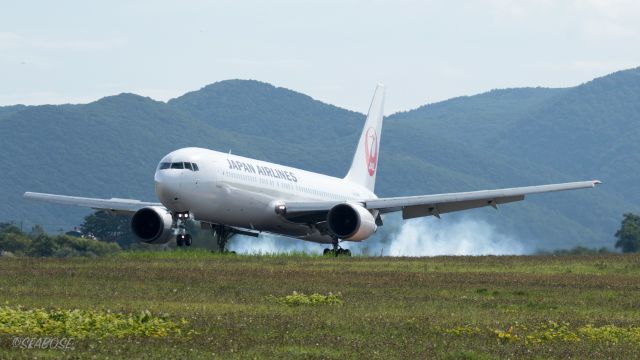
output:
[[[136,211],[131,218],[131,231],[147,244],[166,244],[171,240],[173,217],[167,209],[149,206]]]

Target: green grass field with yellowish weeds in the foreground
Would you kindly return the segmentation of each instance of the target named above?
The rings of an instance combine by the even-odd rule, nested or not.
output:
[[[96,259],[0,258],[0,275],[0,306],[11,314],[80,309],[80,317],[95,312],[106,319],[148,310],[180,327],[109,336],[83,325],[88,335],[76,336],[73,349],[34,350],[16,348],[12,339],[47,335],[44,325],[2,327],[0,316],[3,359],[640,358],[637,255],[123,252]],[[296,301],[306,299],[300,293],[331,293],[339,301],[304,304]],[[65,329],[53,335],[72,331]]]

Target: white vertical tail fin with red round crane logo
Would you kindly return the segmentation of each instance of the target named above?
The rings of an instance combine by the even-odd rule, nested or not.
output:
[[[362,185],[371,191],[376,186],[383,108],[384,85],[378,84],[373,94],[373,100],[371,100],[371,106],[369,106],[367,120],[364,123],[351,168],[345,177],[346,180]]]

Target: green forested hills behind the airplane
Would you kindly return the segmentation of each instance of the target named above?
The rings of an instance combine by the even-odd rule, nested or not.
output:
[[[157,162],[185,146],[343,176],[363,121],[362,114],[247,80],[167,103],[120,94],[86,105],[0,107],[0,221],[57,230],[87,213],[25,201],[24,191],[154,200]],[[534,196],[466,216],[541,249],[610,246],[622,213],[640,211],[639,132],[640,68],[573,88],[455,98],[385,120],[377,192],[598,178],[604,184],[595,190]]]

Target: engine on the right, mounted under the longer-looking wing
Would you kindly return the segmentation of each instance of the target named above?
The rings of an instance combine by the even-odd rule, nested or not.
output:
[[[371,213],[360,205],[338,204],[327,214],[329,229],[342,240],[362,241],[371,236],[378,226]]]

